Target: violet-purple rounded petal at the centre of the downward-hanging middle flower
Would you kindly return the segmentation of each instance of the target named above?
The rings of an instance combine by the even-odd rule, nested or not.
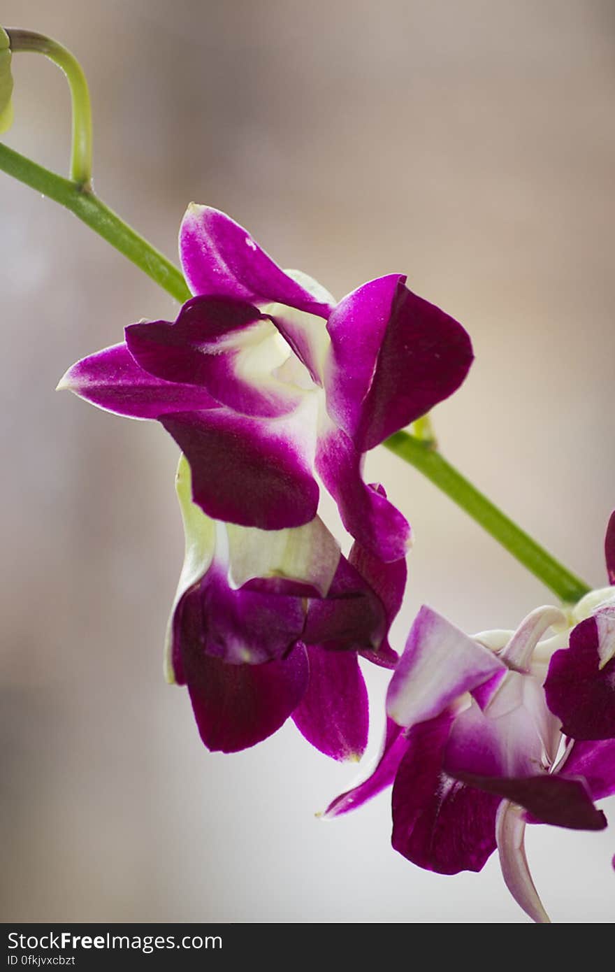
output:
[[[182,617],[202,652],[233,665],[258,665],[290,651],[301,637],[305,610],[302,598],[233,590],[214,562],[185,596]]]

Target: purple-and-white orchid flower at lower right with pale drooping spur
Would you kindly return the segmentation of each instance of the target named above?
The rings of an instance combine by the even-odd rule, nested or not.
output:
[[[550,626],[562,631],[543,640]],[[594,801],[615,792],[615,741],[567,739],[547,704],[543,682],[567,627],[563,611],[545,607],[516,632],[468,638],[422,608],[389,687],[377,765],[327,816],[393,783],[396,851],[457,874],[480,871],[497,847],[515,900],[548,921],[524,850],[526,824],[602,829]]]

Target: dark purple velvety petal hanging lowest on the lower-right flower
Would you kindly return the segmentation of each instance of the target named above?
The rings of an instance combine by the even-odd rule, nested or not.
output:
[[[408,733],[393,783],[393,848],[427,871],[480,871],[495,851],[499,797],[442,771],[454,715],[443,712]]]

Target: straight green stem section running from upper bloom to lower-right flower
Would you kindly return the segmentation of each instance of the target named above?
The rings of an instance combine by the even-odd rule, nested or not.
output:
[[[421,441],[414,435],[398,432],[384,444],[395,455],[427,476],[427,479],[469,513],[488,534],[563,601],[574,603],[588,593],[590,587],[585,581],[566,570],[563,564],[472,486],[428,442]]]

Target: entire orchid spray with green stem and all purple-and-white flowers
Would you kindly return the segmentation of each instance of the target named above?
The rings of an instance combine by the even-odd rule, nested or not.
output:
[[[291,718],[326,755],[359,759],[368,739],[359,659],[392,670],[376,766],[325,816],[392,785],[395,851],[452,875],[480,871],[497,849],[514,898],[548,921],[527,824],[601,829],[596,801],[615,793],[615,514],[605,542],[611,586],[590,591],[436,446],[428,413],[472,363],[457,321],[399,273],[337,301],[211,206],[188,206],[179,270],[92,191],[85,78],[50,38],[0,29],[0,131],[11,123],[20,51],[43,52],[66,73],[71,175],[5,145],[0,168],[71,209],[180,304],[174,321],[124,322],[123,339],[70,366],[58,388],[158,421],[181,450],[186,554],[164,671],[187,685],[204,745],[236,752]],[[385,488],[363,479],[365,454],[382,443],[561,607],[530,611],[516,631],[472,637],[423,607],[399,657],[390,629],[412,535]],[[321,518],[322,487],[352,538],[348,556]]]

